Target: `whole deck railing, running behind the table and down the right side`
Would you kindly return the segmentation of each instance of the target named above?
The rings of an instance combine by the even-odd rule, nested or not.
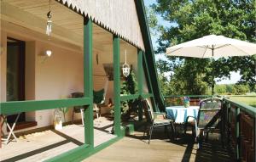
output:
[[[183,105],[183,97],[190,98],[190,105],[199,105],[207,95],[171,95],[165,96],[166,107]],[[224,146],[234,148],[237,161],[256,161],[256,108],[246,103],[235,102],[222,96],[221,131]]]

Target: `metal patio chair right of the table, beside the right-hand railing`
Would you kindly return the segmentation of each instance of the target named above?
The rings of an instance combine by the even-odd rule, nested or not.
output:
[[[198,142],[197,148],[201,148],[202,137],[205,137],[206,135],[207,140],[209,132],[218,131],[219,127],[221,127],[221,125],[219,125],[221,121],[220,113],[221,99],[207,98],[201,100],[197,119],[193,116],[187,117],[184,125],[184,132],[186,133],[187,126],[192,126],[192,133],[195,133],[195,142]],[[193,120],[189,121],[189,118],[192,118]],[[195,129],[195,131],[193,129]]]

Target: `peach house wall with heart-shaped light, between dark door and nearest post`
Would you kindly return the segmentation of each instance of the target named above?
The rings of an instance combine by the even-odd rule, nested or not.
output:
[[[49,58],[42,55],[46,49],[52,50]],[[45,42],[36,42],[36,81],[35,99],[70,98],[72,92],[84,91],[83,54],[74,53]],[[53,124],[55,109],[36,111],[38,127]],[[67,121],[71,120],[72,109],[67,112]],[[75,115],[75,119],[79,114]]]

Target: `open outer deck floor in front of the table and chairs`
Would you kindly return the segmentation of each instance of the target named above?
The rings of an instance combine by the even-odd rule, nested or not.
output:
[[[154,131],[153,139],[148,144],[148,138],[142,131],[136,131],[130,137],[124,137],[101,152],[85,159],[84,162],[228,162],[235,161],[230,148],[222,148],[217,136],[209,135],[209,141],[203,143],[203,148],[197,150],[191,134],[181,134],[177,141],[166,137],[162,130]]]

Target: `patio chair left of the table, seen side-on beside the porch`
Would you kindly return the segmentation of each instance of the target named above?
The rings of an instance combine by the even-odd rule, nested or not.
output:
[[[145,133],[147,131],[147,127],[149,126],[149,128],[150,128],[149,129],[148,144],[150,143],[154,127],[165,126],[165,131],[168,131],[167,126],[170,126],[172,131],[174,131],[173,121],[172,120],[166,120],[166,114],[165,113],[159,113],[159,112],[151,113],[151,109],[148,106],[147,100],[142,100],[141,104],[142,104],[142,107],[143,107],[145,117],[147,119],[147,124],[145,125],[143,137],[145,136]],[[169,134],[169,137],[170,137],[170,140],[171,140],[170,133],[168,133],[168,134]]]

